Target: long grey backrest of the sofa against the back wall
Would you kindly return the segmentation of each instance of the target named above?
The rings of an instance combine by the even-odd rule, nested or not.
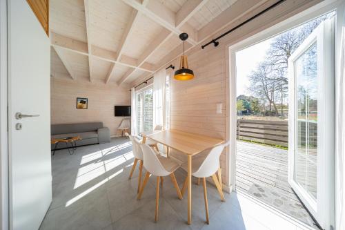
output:
[[[83,133],[90,131],[97,131],[103,128],[103,122],[78,123],[78,124],[52,124],[51,135],[65,134],[65,133]]]

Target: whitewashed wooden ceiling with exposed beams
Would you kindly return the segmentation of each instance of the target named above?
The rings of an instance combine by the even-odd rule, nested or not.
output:
[[[277,0],[50,0],[51,76],[132,85]]]

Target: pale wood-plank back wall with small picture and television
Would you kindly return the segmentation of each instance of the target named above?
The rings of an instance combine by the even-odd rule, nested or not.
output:
[[[90,84],[64,79],[51,80],[51,122],[103,122],[110,135],[119,135],[117,127],[123,117],[114,116],[115,105],[130,105],[129,88],[115,84]],[[88,109],[77,109],[77,97],[88,98]]]

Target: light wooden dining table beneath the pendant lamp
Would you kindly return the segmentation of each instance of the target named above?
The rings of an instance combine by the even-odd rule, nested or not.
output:
[[[148,131],[142,132],[143,143],[147,138],[172,148],[187,157],[188,164],[188,224],[192,223],[192,157],[208,148],[212,148],[217,144],[224,143],[224,140],[208,137],[206,135],[199,135],[195,133],[187,133],[174,129],[163,131]]]

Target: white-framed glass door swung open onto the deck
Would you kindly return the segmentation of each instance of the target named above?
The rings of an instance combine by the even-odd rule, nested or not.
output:
[[[323,229],[334,226],[334,57],[334,19],[328,19],[288,60],[288,182]]]

